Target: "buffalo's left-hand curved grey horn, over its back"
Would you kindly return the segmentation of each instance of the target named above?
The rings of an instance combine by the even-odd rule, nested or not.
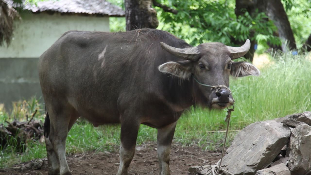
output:
[[[188,47],[184,49],[176,48],[165,44],[164,42],[160,42],[161,47],[168,51],[171,54],[179,56],[186,60],[197,61],[199,57],[199,50],[197,47]]]

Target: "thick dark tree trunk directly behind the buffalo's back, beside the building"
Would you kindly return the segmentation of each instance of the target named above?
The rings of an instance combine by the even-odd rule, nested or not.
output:
[[[152,0],[125,0],[126,31],[159,25]]]

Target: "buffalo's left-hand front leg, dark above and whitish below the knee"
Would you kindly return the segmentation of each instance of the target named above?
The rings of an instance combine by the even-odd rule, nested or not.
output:
[[[120,166],[117,175],[127,175],[134,157],[139,124],[134,121],[121,122]]]

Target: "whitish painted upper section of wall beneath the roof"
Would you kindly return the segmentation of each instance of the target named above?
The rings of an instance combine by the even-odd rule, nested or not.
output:
[[[9,47],[0,47],[0,58],[38,58],[63,33],[70,30],[109,31],[109,17],[33,14],[23,12],[16,22]]]

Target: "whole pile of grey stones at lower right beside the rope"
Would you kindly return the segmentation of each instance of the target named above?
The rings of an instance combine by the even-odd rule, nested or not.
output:
[[[311,175],[311,112],[248,125],[226,153],[221,166],[234,175]]]

